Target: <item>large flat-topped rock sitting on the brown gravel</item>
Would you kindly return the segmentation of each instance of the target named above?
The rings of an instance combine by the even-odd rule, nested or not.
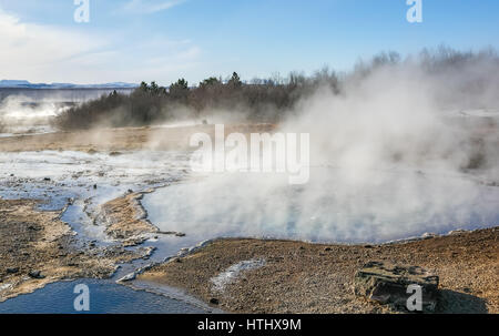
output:
[[[421,287],[422,312],[435,312],[438,298],[438,276],[419,266],[401,266],[369,262],[355,274],[354,293],[379,304],[407,309],[409,285]]]

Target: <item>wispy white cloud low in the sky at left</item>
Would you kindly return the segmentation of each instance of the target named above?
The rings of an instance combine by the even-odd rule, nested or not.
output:
[[[157,34],[132,44],[128,39],[122,31],[23,22],[0,8],[0,80],[167,83],[198,67],[202,51],[189,39]]]

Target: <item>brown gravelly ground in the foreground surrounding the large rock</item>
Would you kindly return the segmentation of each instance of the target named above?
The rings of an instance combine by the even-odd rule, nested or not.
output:
[[[242,261],[264,259],[216,288],[212,278]],[[317,245],[218,240],[154,266],[138,279],[185,289],[233,313],[395,313],[353,294],[369,261],[418,265],[440,277],[438,313],[499,313],[499,227],[390,245]]]

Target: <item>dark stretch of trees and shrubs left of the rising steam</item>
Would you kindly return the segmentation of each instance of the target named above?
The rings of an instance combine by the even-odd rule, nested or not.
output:
[[[248,121],[276,122],[297,100],[319,84],[337,86],[336,73],[324,69],[314,77],[292,73],[287,79],[255,79],[249,83],[234,72],[223,81],[211,77],[195,86],[179,79],[170,86],[142,82],[131,94],[108,95],[71,108],[55,119],[62,130],[142,126],[176,119],[203,118],[207,111],[243,112]]]

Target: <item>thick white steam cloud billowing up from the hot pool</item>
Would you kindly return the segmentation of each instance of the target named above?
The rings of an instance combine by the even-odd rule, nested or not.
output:
[[[310,182],[222,174],[145,198],[164,230],[380,242],[499,220],[493,52],[376,60],[299,102],[282,132],[310,134]]]

